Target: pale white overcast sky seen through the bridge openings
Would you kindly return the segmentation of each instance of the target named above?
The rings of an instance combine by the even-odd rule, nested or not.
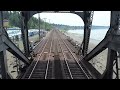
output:
[[[38,14],[34,17],[38,18]],[[70,26],[84,26],[82,19],[73,13],[40,13],[40,18],[46,22]],[[46,18],[46,19],[45,19]],[[110,11],[94,11],[92,25],[109,26]]]

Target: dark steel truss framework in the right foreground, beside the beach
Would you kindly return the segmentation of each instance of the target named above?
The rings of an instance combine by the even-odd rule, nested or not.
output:
[[[119,79],[119,53],[120,53],[120,12],[111,11],[110,28],[105,38],[86,56],[81,62],[88,71],[98,79]],[[104,73],[101,75],[88,61],[108,48],[107,64]],[[115,68],[114,68],[115,66]],[[114,74],[113,74],[114,73]]]

